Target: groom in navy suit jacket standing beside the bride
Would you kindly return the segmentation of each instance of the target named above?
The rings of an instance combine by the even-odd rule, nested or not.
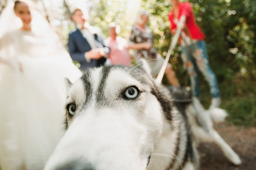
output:
[[[80,63],[80,69],[99,67],[106,62],[110,49],[105,46],[102,31],[85,23],[81,9],[75,9],[72,19],[77,29],[69,34],[69,54],[71,58]]]

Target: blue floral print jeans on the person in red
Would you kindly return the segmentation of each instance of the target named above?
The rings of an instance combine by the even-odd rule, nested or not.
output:
[[[197,75],[199,69],[210,86],[212,97],[219,97],[218,82],[210,67],[205,41],[197,41],[194,47],[195,57],[191,54],[191,52],[194,52],[191,45],[189,47],[183,46],[181,55],[183,64],[188,70],[192,93],[195,97],[200,95],[199,77]]]

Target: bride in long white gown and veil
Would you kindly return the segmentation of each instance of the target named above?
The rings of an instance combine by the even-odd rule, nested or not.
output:
[[[28,0],[0,16],[0,169],[42,169],[65,130],[64,78],[79,69]]]

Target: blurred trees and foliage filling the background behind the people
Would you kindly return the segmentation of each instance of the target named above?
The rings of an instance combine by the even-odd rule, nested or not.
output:
[[[0,0],[0,14],[8,0]],[[59,38],[66,46],[68,33],[75,28],[71,12],[79,7],[88,11],[91,25],[102,29],[108,37],[108,24],[121,26],[119,36],[128,40],[135,15],[141,8],[150,12],[149,26],[155,46],[166,56],[172,36],[165,0],[34,0]],[[222,104],[229,112],[228,122],[256,126],[256,1],[255,0],[190,0],[196,22],[205,35],[210,64],[216,73]],[[177,45],[170,63],[182,86],[189,86],[189,77],[182,67],[181,47]],[[199,73],[200,74],[200,73]],[[210,105],[207,82],[200,75],[205,107]],[[163,80],[167,84],[166,78]]]

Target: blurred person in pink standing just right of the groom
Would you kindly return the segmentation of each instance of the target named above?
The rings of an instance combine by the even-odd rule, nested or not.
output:
[[[110,23],[110,37],[108,37],[105,42],[110,47],[108,57],[113,65],[131,66],[131,55],[128,52],[127,41],[124,38],[117,36],[117,33],[119,33],[118,25],[114,22]]]

